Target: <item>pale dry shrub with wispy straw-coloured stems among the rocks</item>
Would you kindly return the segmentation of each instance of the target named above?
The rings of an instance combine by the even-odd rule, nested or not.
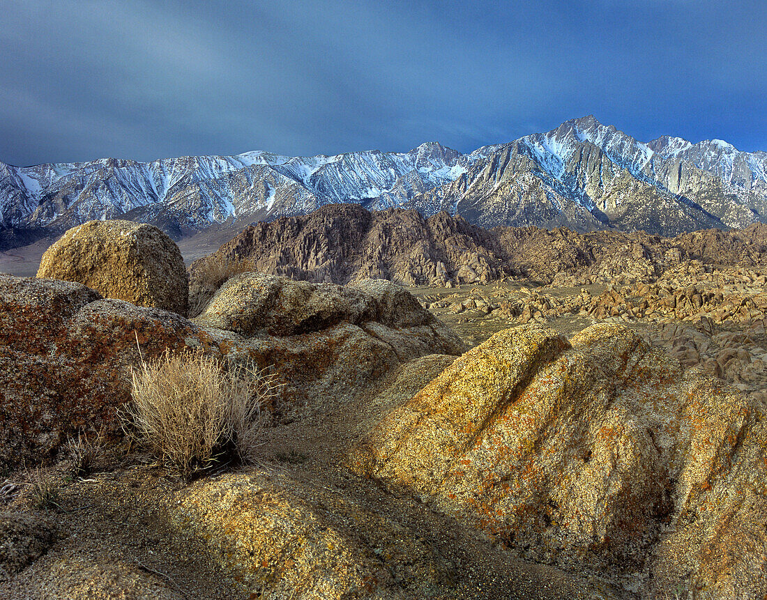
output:
[[[241,460],[248,457],[275,390],[258,370],[166,352],[133,369],[133,403],[125,410],[153,453],[189,477],[212,464],[216,451],[234,448]]]

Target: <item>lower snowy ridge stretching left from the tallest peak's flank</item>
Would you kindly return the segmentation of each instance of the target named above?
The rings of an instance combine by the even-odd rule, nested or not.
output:
[[[228,219],[304,214],[331,202],[377,201],[388,208],[451,181],[481,157],[482,149],[463,156],[438,143],[425,143],[405,153],[372,150],[289,157],[256,151],[153,162],[3,164],[0,225],[63,228],[133,211],[205,228]],[[137,210],[158,203],[163,207]]]

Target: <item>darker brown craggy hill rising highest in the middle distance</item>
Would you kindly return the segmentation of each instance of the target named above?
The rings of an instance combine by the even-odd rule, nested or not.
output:
[[[370,212],[328,205],[307,216],[245,229],[214,254],[219,261],[250,258],[263,273],[346,284],[366,278],[399,284],[489,281],[509,275],[489,231],[446,214]],[[202,259],[200,259],[202,261]],[[191,267],[196,284],[197,267]]]

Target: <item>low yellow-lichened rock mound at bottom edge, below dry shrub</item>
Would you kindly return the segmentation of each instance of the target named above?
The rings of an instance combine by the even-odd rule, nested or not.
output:
[[[400,597],[387,591],[391,573],[339,527],[341,518],[280,479],[239,474],[195,484],[177,494],[172,523],[206,540],[243,597]]]

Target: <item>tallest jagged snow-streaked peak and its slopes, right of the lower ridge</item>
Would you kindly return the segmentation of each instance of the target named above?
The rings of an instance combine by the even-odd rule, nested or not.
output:
[[[767,153],[720,140],[641,143],[593,116],[501,146],[408,206],[495,225],[678,234],[767,214]]]

